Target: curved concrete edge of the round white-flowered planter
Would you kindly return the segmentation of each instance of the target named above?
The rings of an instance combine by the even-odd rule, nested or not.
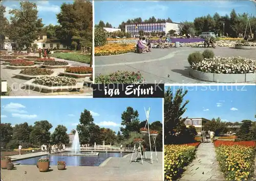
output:
[[[256,81],[256,73],[241,73],[241,74],[222,74],[222,73],[207,73],[189,68],[189,75],[208,82],[217,83],[245,83]]]

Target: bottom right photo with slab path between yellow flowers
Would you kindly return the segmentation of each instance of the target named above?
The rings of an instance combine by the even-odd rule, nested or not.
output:
[[[165,86],[164,180],[254,180],[256,86]]]

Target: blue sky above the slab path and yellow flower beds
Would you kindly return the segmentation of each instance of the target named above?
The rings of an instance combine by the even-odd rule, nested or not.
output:
[[[165,90],[168,87],[165,86]],[[177,90],[178,86],[172,86]],[[189,100],[182,118],[220,117],[222,121],[256,121],[256,86],[184,86],[188,90],[183,101]]]

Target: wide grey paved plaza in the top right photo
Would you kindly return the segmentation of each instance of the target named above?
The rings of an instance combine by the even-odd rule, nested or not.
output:
[[[170,49],[152,48],[146,54],[128,53],[114,56],[95,57],[95,76],[99,73],[109,74],[117,70],[140,71],[147,83],[209,83],[189,76],[187,57],[195,51],[203,51],[201,47],[178,47]],[[234,49],[230,47],[210,48],[216,56],[255,59],[253,49]],[[253,83],[253,82],[251,82]]]

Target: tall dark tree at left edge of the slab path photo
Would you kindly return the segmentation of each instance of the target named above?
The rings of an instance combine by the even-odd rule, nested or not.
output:
[[[182,89],[178,89],[174,96],[170,87],[164,93],[164,144],[177,142],[179,140],[177,135],[182,136],[182,132],[186,128],[184,119],[181,119],[186,111],[185,106],[189,102],[186,100],[183,104],[186,94],[187,90],[183,93]]]

